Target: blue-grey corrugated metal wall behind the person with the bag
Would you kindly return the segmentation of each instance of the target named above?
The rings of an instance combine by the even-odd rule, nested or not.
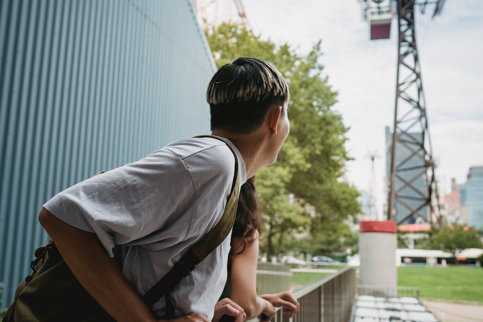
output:
[[[215,70],[190,0],[0,2],[2,304],[55,193],[207,133]]]

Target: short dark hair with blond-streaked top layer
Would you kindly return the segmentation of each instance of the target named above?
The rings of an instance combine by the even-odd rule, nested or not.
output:
[[[257,58],[237,58],[218,69],[208,85],[211,129],[250,133],[262,125],[270,106],[283,108],[288,99],[287,82],[275,67]]]

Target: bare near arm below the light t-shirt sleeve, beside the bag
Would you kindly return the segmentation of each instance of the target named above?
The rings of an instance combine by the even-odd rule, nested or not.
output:
[[[117,321],[156,321],[96,234],[65,223],[45,208],[39,221],[72,273],[110,316]]]

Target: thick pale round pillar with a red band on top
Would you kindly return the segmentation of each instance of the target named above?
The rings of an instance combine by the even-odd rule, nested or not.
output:
[[[359,285],[374,286],[379,290],[387,287],[387,295],[394,294],[398,283],[396,222],[393,220],[361,221],[360,227]]]

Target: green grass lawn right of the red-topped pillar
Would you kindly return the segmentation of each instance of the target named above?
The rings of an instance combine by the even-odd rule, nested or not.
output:
[[[482,268],[399,267],[398,285],[418,287],[421,297],[483,302]]]

